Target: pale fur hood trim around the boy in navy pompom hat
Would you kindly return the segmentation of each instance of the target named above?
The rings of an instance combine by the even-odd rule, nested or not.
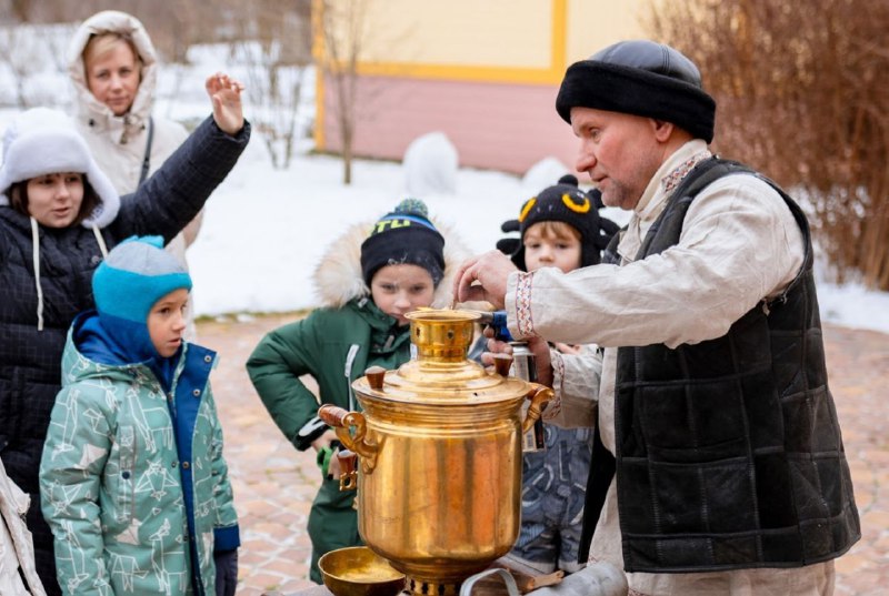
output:
[[[444,309],[451,303],[457,267],[471,254],[451,225],[434,218],[430,218],[430,221],[444,238],[444,276],[436,287],[432,306]],[[370,289],[361,274],[361,243],[368,238],[371,228],[373,221],[350,225],[330,243],[318,262],[312,280],[322,306],[338,309],[350,300],[370,295]]]

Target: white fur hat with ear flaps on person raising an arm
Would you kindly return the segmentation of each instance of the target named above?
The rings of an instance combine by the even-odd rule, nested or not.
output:
[[[104,228],[120,210],[120,196],[92,159],[87,142],[62,112],[33,108],[19,114],[3,134],[0,165],[0,205],[8,205],[7,191],[16,182],[57,172],[78,172],[99,195],[99,204],[82,222],[86,228]]]

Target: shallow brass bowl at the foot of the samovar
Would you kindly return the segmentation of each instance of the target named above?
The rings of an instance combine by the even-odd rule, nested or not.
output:
[[[367,546],[331,550],[318,567],[334,596],[396,596],[404,589],[404,574]]]

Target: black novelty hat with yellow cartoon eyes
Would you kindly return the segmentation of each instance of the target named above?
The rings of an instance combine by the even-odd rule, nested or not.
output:
[[[527,200],[517,220],[503,222],[503,232],[518,231],[520,235],[501,239],[497,248],[509,254],[516,266],[526,270],[525,232],[536,223],[559,221],[580,233],[580,266],[597,265],[601,261],[601,251],[618,231],[615,222],[599,216],[599,209],[602,206],[598,190],[583,192],[578,188],[577,176],[566,174],[557,184]]]

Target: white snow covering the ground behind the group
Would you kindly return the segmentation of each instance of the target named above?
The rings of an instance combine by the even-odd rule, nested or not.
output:
[[[218,60],[219,49],[196,49],[189,67],[161,70],[157,113],[194,123],[209,114],[203,79],[229,64]],[[50,69],[48,69],[50,70]],[[0,69],[0,83],[10,84]],[[54,104],[64,107],[68,89],[60,69],[32,81],[53,89]],[[42,79],[41,79],[42,80]],[[311,75],[303,89],[314,89]],[[8,87],[7,87],[8,89]],[[9,98],[0,94],[0,100]],[[0,101],[7,103],[8,101]],[[313,114],[312,98],[301,102],[301,124]],[[0,108],[0,133],[17,111]],[[246,105],[250,118],[250,105]],[[304,124],[303,124],[304,125]],[[301,127],[302,128],[302,127]],[[433,132],[433,131],[430,131]],[[203,226],[188,259],[194,280],[194,304],[199,315],[287,312],[317,305],[311,273],[323,251],[347,225],[372,222],[403,196],[406,176],[401,164],[357,161],[352,185],[343,185],[338,159],[309,155],[310,140],[288,170],[274,170],[258,133],[234,170],[216,191],[204,210]],[[500,223],[517,215],[521,203],[543,186],[555,183],[558,163],[545,161],[521,179],[491,171],[460,169],[456,192],[422,196],[433,219],[456,228],[472,252],[495,246]],[[607,210],[607,216],[625,223],[627,213]],[[889,293],[869,292],[860,285],[837,286],[819,282],[822,319],[835,324],[889,333]]]

